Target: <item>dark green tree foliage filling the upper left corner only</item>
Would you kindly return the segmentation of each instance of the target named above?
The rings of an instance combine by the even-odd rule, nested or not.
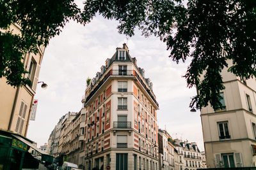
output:
[[[0,78],[19,86],[31,83],[22,78],[24,54],[37,53],[37,46],[46,46],[49,39],[73,19],[81,22],[80,10],[72,0],[3,0],[0,2]],[[11,24],[21,26],[21,34],[10,30]]]

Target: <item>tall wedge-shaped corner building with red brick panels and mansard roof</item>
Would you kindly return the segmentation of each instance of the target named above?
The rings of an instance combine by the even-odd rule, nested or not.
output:
[[[159,106],[144,74],[124,44],[90,81],[82,100],[85,169],[159,169]]]

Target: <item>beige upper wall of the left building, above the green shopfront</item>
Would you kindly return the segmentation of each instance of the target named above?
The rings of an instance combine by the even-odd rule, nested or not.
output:
[[[20,34],[20,25],[12,24],[10,29],[13,34]],[[24,56],[24,69],[29,73],[22,77],[28,77],[32,82],[31,86],[13,88],[6,83],[6,78],[0,79],[0,129],[26,136],[44,50],[44,47],[38,46],[38,53]]]

